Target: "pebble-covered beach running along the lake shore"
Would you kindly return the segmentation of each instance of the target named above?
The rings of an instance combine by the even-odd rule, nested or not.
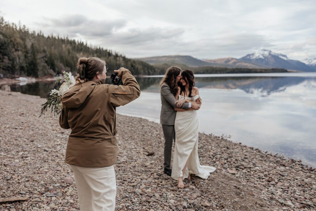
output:
[[[79,210],[64,163],[70,130],[40,118],[39,96],[0,91],[0,210]],[[163,174],[161,125],[117,115],[116,210],[316,210],[316,170],[301,161],[199,134],[200,163],[217,170],[185,188]]]

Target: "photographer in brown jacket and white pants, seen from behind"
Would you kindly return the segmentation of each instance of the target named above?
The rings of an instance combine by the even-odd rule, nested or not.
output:
[[[77,71],[78,83],[62,96],[59,117],[62,128],[71,128],[65,162],[74,171],[81,210],[114,210],[115,109],[139,97],[140,88],[125,68],[114,71],[123,85],[104,84],[106,63],[99,58],[80,58]]]

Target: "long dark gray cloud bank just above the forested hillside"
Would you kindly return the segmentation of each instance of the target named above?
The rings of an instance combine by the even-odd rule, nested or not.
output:
[[[56,34],[58,32],[73,38],[81,38],[93,42],[102,43],[102,46],[110,44],[139,46],[150,45],[152,42],[169,42],[179,39],[185,32],[181,28],[129,28],[121,30],[126,26],[126,20],[95,21],[83,15],[72,15],[58,19],[45,18],[45,22],[38,23],[45,31]],[[113,47],[115,48],[115,47]]]

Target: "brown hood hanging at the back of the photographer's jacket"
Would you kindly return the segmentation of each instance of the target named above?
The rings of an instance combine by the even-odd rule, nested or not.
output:
[[[98,84],[103,84],[104,80],[99,82],[88,81],[83,84],[75,84],[69,90],[65,91],[61,98],[61,102],[66,108],[79,108],[81,104],[87,99],[87,97],[94,90],[94,87]]]

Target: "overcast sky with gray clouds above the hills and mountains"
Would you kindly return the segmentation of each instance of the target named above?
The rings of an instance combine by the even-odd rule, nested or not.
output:
[[[112,49],[129,58],[240,58],[259,49],[316,57],[315,0],[0,2],[8,22]]]

